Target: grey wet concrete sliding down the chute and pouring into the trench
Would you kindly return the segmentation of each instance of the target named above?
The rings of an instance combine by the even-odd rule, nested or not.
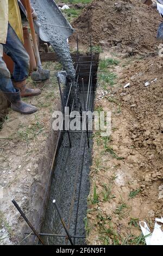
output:
[[[75,79],[75,71],[70,54],[67,38],[73,33],[73,29],[61,14],[53,0],[32,0],[32,6],[37,13],[37,22],[40,23],[40,37],[48,41],[57,53],[63,69],[72,81]],[[48,25],[46,25],[48,24]],[[50,24],[50,25],[49,25]],[[51,26],[59,25],[68,29]]]

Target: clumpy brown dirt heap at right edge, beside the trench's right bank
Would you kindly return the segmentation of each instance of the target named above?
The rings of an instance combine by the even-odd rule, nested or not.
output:
[[[122,91],[122,100],[134,112],[140,124],[131,129],[135,147],[144,148],[146,153],[154,150],[162,159],[163,60],[160,57],[137,60],[124,70],[123,77],[122,82],[130,82],[130,88]]]

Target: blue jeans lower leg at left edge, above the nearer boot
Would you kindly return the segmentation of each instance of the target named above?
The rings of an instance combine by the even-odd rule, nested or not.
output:
[[[0,90],[2,92],[15,92],[15,88],[12,85],[10,79],[10,71],[7,65],[4,63],[2,57],[0,56]]]

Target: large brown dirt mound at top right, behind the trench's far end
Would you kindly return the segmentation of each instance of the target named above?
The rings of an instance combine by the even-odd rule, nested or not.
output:
[[[157,48],[156,32],[159,13],[137,0],[93,1],[73,22],[73,27],[83,44],[117,46],[130,55],[152,52]]]

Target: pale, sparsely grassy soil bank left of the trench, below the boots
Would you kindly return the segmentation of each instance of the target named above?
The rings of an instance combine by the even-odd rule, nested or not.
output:
[[[11,200],[16,200],[35,226],[45,196],[58,136],[52,130],[52,114],[56,108],[60,109],[60,94],[55,76],[58,72],[56,63],[44,63],[43,66],[51,70],[51,78],[40,83],[28,78],[27,83],[28,87],[39,87],[42,94],[23,98],[39,111],[25,116],[9,110],[0,131],[1,245],[20,244],[27,236],[24,232],[31,231]]]

